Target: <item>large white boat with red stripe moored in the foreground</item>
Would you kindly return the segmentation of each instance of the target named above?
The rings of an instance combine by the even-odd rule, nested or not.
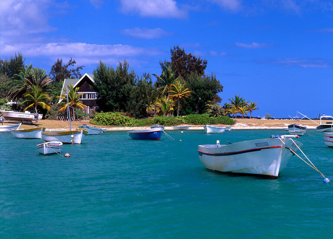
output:
[[[199,145],[199,159],[211,171],[226,174],[249,174],[277,178],[289,159],[302,147],[302,143],[290,138],[297,135],[282,135],[270,139],[254,139],[220,145]],[[282,143],[282,141],[284,143]]]

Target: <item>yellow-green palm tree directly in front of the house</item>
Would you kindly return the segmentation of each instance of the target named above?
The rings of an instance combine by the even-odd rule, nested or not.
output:
[[[60,106],[62,107],[59,111],[64,111],[67,108],[67,90],[63,89],[65,94],[62,94],[61,96],[58,96],[57,98],[61,98],[63,101],[61,101]],[[72,107],[73,109],[73,119],[75,120],[75,113],[74,109],[82,109],[86,108],[87,106],[82,104],[80,100],[80,96],[82,93],[78,94],[79,88],[74,88],[72,84],[70,84],[68,88],[68,105],[69,107]]]

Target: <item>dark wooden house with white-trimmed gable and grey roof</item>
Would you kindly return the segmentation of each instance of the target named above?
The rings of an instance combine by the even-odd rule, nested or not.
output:
[[[65,79],[64,84],[61,90],[61,95],[64,94],[64,89],[66,86],[74,85],[74,88],[79,88],[78,93],[82,93],[81,101],[82,104],[86,105],[85,112],[93,116],[95,112],[100,111],[100,107],[97,105],[97,96],[98,93],[93,89],[92,85],[94,84],[94,75],[93,74],[84,74],[80,79]],[[59,100],[60,103],[62,99]]]

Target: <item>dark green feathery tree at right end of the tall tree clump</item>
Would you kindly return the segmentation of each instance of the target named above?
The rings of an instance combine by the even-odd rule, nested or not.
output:
[[[191,97],[184,99],[180,114],[202,114],[207,112],[208,103],[216,99],[216,94],[222,92],[223,86],[215,75],[201,76],[192,73],[187,77],[186,87],[192,91]]]

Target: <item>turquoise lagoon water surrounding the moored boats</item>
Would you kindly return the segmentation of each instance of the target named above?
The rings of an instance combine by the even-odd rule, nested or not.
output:
[[[64,145],[70,158],[1,133],[0,238],[332,237],[333,183],[296,156],[278,179],[210,172],[198,159],[198,144],[286,131],[167,133],[175,141],[90,135]],[[304,153],[332,180],[333,148],[308,133],[315,137],[299,138]]]

